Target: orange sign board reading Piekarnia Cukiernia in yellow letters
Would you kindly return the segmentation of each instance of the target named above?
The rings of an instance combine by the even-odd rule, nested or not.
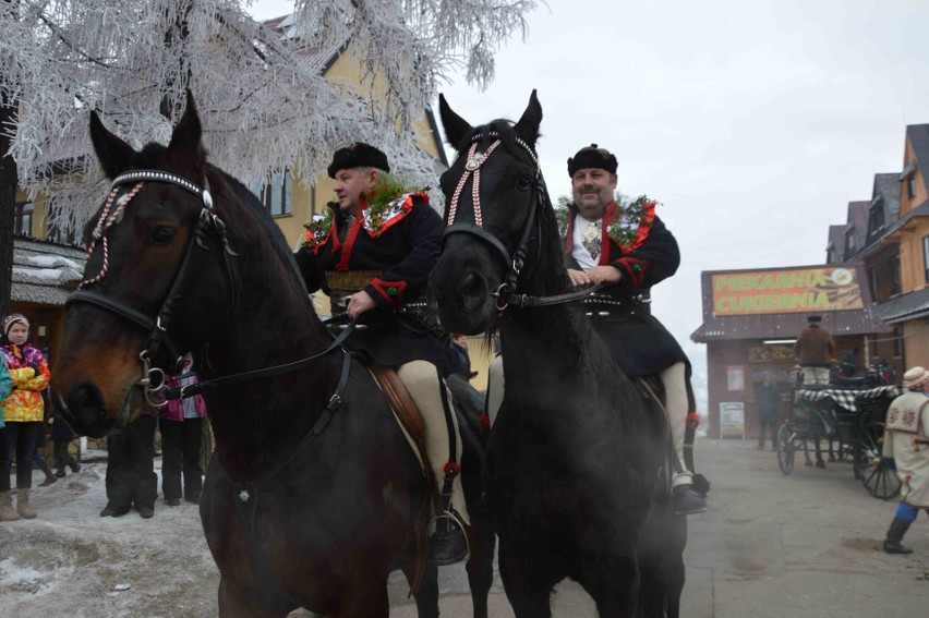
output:
[[[713,275],[713,315],[862,308],[854,268],[825,266]]]

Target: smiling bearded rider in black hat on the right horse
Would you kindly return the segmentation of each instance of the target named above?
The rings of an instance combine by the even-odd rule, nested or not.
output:
[[[680,254],[677,241],[655,216],[654,202],[640,198],[627,207],[616,203],[616,157],[596,144],[568,159],[574,194],[565,239],[568,275],[577,288],[603,286],[589,299],[589,315],[623,371],[631,377],[661,377],[678,460],[672,483],[674,510],[699,513],[707,510],[705,499],[693,488],[693,472],[688,469],[692,458],[685,458],[685,449],[692,449],[692,444],[685,447],[687,425],[698,419],[690,363],[648,308],[651,287],[674,275]],[[491,367],[488,392],[499,392],[500,363],[498,358]],[[498,397],[488,398],[492,416]]]

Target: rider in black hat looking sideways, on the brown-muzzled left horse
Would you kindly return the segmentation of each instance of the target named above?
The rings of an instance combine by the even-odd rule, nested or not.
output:
[[[468,518],[458,478],[461,439],[439,377],[448,376],[453,358],[408,311],[419,305],[435,266],[442,218],[423,191],[405,187],[389,171],[387,156],[369,144],[336,150],[328,167],[336,202],[324,221],[312,226],[295,258],[310,293],[322,289],[334,315],[347,311],[364,322],[366,328],[354,331],[346,346],[394,367],[415,402],[445,508],[436,513],[442,517],[430,537],[430,558],[449,565],[467,555],[460,521]]]

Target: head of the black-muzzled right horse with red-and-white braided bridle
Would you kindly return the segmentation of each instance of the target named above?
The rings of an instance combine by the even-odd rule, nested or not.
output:
[[[542,106],[533,90],[515,124],[473,128],[439,96],[439,114],[458,156],[441,180],[446,228],[430,304],[448,330],[474,335],[493,328],[517,290],[567,286],[564,266],[552,268],[562,262],[557,225],[535,154]]]

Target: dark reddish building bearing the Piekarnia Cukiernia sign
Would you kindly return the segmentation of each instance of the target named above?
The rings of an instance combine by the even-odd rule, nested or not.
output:
[[[794,342],[810,315],[835,339],[835,355],[856,352],[892,328],[881,323],[861,264],[704,271],[703,324],[690,338],[707,343],[710,437],[757,437],[755,387],[771,373],[787,412],[796,359]]]

